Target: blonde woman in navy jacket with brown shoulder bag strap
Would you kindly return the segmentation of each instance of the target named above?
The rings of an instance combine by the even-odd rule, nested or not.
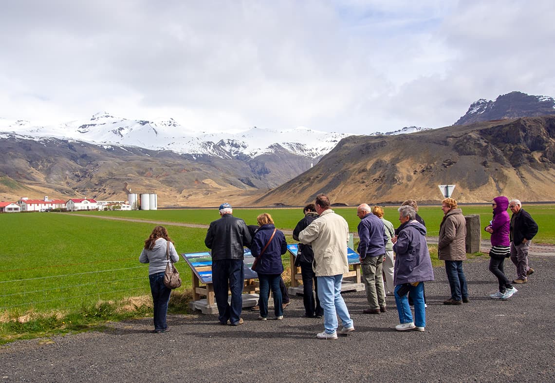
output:
[[[263,321],[268,319],[268,297],[271,288],[274,295],[276,320],[282,320],[283,308],[281,306],[282,297],[279,280],[283,272],[281,255],[287,252],[287,242],[285,242],[284,233],[275,228],[271,215],[268,213],[261,214],[256,217],[256,221],[258,221],[260,228],[253,238],[250,252],[256,258],[254,271],[258,273],[260,282],[260,316],[258,319]],[[266,247],[266,244],[268,244],[268,247]],[[264,247],[266,247],[266,250],[260,255]]]

